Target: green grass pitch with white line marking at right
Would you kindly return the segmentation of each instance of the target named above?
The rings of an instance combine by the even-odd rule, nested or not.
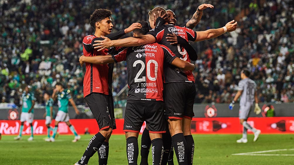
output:
[[[35,136],[32,142],[27,141],[29,136],[23,136],[21,141],[14,141],[14,137],[4,135],[0,140],[1,165],[73,165],[82,156],[91,135],[83,135],[76,143],[71,142],[74,138],[72,135],[60,135],[56,142],[45,142],[43,140],[45,136],[40,135]],[[261,134],[257,142],[253,142],[253,135],[248,135],[247,144],[236,143],[241,135],[193,135],[193,137],[194,164],[294,164],[294,134]],[[127,165],[124,135],[112,135],[109,143],[108,164]],[[268,152],[269,150],[274,151]],[[260,155],[257,156],[232,155],[259,151],[263,152],[258,153]],[[138,163],[140,159],[139,154]],[[177,164],[176,158],[174,161]],[[98,164],[97,154],[90,159],[89,165],[92,164]],[[149,155],[149,164],[152,164],[151,155]]]

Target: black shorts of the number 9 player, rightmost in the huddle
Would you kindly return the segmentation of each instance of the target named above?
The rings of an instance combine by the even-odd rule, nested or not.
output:
[[[163,86],[165,117],[168,119],[192,119],[196,96],[194,83],[168,83]]]

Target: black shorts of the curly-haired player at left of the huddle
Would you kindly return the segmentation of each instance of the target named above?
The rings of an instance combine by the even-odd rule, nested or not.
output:
[[[112,95],[102,93],[90,93],[85,100],[96,119],[99,129],[111,127],[116,129]]]

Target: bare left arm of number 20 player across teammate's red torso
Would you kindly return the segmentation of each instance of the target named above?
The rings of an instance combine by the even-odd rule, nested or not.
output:
[[[93,57],[87,57],[87,56],[81,56],[80,59],[80,64],[81,66],[87,62],[91,64],[109,64],[113,63],[114,60],[111,55],[106,55],[106,56],[93,56]]]

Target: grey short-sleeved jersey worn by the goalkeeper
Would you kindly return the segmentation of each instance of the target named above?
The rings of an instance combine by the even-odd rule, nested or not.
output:
[[[240,98],[240,105],[253,104],[256,91],[256,83],[253,80],[246,78],[239,81],[238,91],[243,91]]]

